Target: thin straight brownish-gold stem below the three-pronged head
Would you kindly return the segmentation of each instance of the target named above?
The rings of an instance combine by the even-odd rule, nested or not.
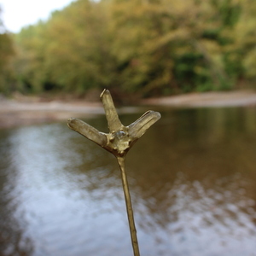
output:
[[[119,167],[122,174],[122,183],[123,183],[123,189],[125,193],[125,203],[126,203],[126,210],[127,210],[128,221],[130,226],[131,244],[133,247],[133,253],[134,253],[134,256],[140,256],[138,242],[137,242],[137,230],[135,227],[133,211],[131,206],[131,195],[129,192],[129,186],[128,186],[127,176],[125,172],[125,157],[117,157],[117,160],[119,162]]]

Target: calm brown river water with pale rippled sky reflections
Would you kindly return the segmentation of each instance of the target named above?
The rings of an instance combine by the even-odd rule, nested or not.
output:
[[[255,108],[162,112],[127,156],[142,256],[256,255],[255,130]],[[64,123],[0,131],[0,216],[0,255],[132,253],[116,161]]]

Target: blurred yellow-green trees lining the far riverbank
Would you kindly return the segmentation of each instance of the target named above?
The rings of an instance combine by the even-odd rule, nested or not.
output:
[[[253,0],[78,0],[15,35],[17,88],[141,96],[256,79]]]

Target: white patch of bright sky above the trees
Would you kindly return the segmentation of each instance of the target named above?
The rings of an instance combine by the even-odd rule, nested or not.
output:
[[[51,12],[63,9],[73,0],[0,0],[3,25],[9,32],[20,32],[23,26],[46,20]]]

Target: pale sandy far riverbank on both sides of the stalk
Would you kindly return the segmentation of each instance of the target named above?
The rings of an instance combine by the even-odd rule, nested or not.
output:
[[[138,104],[151,106],[166,106],[170,108],[199,107],[235,107],[255,106],[255,91],[207,92],[192,93],[181,96],[166,96],[143,100]],[[128,108],[123,108],[123,110]],[[132,111],[133,108],[128,109]],[[55,120],[65,120],[69,117],[90,117],[103,114],[101,102],[86,101],[50,101],[41,102],[37,98],[19,98],[8,100],[0,98],[0,128],[18,125],[31,125]]]

